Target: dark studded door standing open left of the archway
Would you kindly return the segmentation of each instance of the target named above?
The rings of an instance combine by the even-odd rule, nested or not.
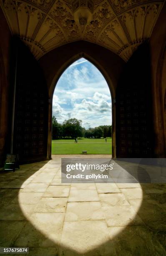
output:
[[[13,153],[20,161],[46,159],[48,137],[48,91],[30,50],[19,40],[15,89]]]

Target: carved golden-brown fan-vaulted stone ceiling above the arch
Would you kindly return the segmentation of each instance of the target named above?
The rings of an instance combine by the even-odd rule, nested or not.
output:
[[[73,0],[0,0],[13,34],[30,47],[36,59],[69,42],[102,45],[128,61],[150,38],[163,0],[94,0],[91,23],[73,18]]]

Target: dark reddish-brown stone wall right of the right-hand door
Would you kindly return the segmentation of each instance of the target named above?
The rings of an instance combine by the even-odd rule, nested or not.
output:
[[[150,39],[155,156],[166,157],[166,3]]]

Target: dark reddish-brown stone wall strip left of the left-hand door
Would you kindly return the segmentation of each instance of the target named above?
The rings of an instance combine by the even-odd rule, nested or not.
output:
[[[0,9],[0,165],[8,151],[9,116],[9,59],[11,33]]]

